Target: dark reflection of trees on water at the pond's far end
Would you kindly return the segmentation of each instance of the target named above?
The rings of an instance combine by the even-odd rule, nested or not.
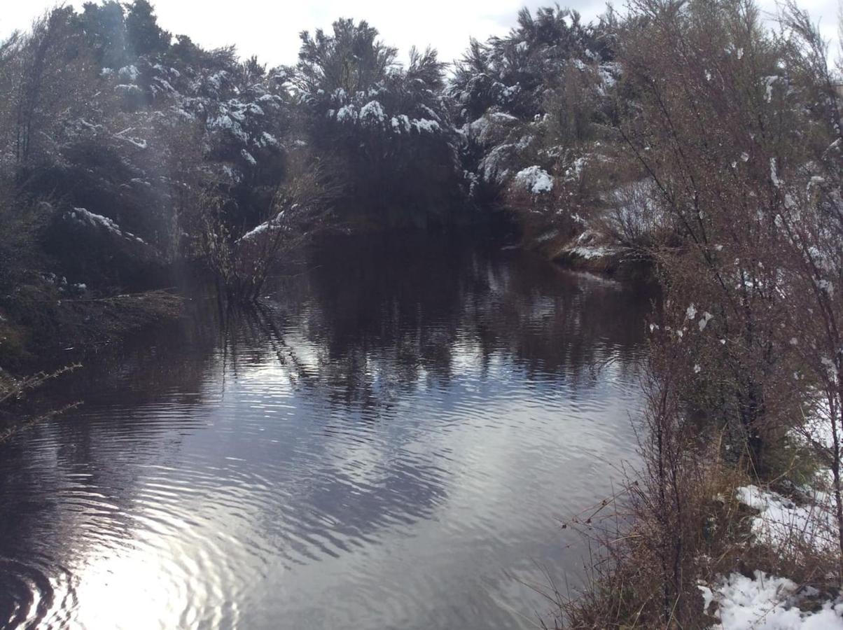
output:
[[[295,366],[296,345],[283,340],[292,322],[318,359],[300,382],[364,406],[447,384],[456,353],[481,368],[511,357],[531,376],[572,382],[588,382],[605,360],[626,369],[650,307],[613,282],[447,238],[346,239],[280,291],[281,307],[250,327],[254,342],[269,333],[279,360]]]

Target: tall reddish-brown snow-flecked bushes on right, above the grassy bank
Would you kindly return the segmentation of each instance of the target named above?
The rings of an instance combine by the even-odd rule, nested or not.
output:
[[[792,431],[828,464],[843,579],[843,136],[824,42],[793,4],[776,36],[746,0],[636,6],[623,132],[679,237],[654,251],[661,339],[760,478]]]

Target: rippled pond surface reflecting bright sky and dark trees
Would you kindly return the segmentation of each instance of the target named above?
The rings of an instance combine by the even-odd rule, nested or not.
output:
[[[645,308],[534,265],[372,257],[344,293],[325,264],[74,376],[83,408],[2,447],[0,613],[528,627],[546,604],[512,576],[578,573],[556,518],[632,455]]]

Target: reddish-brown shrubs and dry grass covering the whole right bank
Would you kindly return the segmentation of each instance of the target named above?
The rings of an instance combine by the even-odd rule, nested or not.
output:
[[[664,302],[634,525],[568,611],[575,627],[708,625],[699,585],[756,569],[833,599],[843,136],[827,49],[793,4],[778,32],[742,0],[634,9],[618,51],[635,99],[619,132],[646,178],[619,200],[631,216],[611,212],[604,225],[657,262]],[[828,494],[816,499],[806,481]],[[769,499],[784,521],[739,504],[758,492],[736,490],[748,483],[787,496]],[[798,510],[804,522],[787,521]],[[769,518],[774,539],[761,529]]]

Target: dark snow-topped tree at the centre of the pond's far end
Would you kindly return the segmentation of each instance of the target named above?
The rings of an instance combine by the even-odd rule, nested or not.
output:
[[[350,222],[450,222],[459,200],[459,138],[443,98],[436,51],[394,48],[365,22],[341,19],[333,33],[302,34],[293,72],[317,152],[341,157]]]

